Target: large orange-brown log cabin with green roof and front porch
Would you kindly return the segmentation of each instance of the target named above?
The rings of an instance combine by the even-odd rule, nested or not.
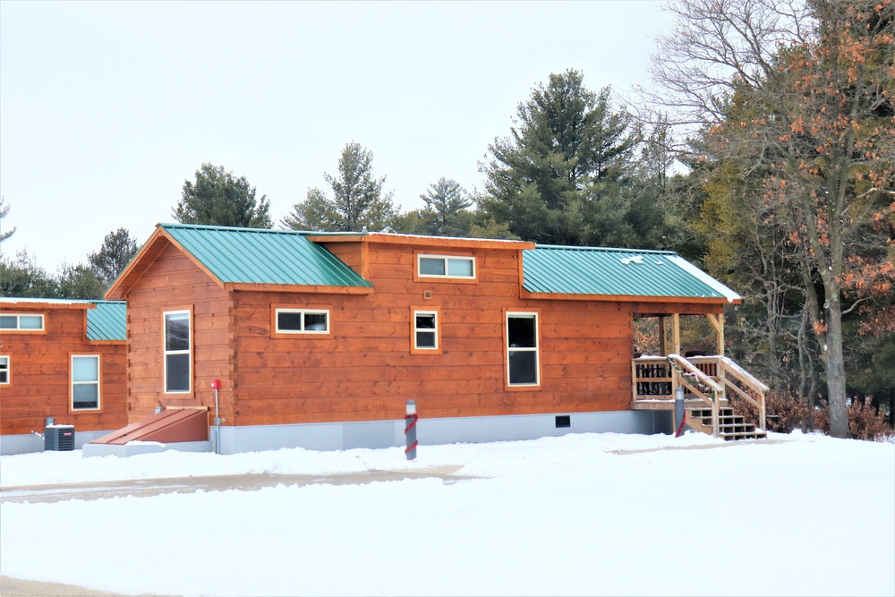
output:
[[[421,444],[672,431],[664,381],[691,363],[635,359],[635,318],[672,321],[675,355],[680,316],[711,320],[705,378],[741,301],[673,252],[170,224],[106,298],[129,422],[203,409],[225,454],[403,445],[410,400]]]

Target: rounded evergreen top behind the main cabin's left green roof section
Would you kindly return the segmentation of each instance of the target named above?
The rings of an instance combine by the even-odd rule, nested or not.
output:
[[[183,195],[171,213],[183,224],[268,228],[272,222],[267,195],[255,199],[255,187],[224,166],[202,164],[196,182],[183,181]]]

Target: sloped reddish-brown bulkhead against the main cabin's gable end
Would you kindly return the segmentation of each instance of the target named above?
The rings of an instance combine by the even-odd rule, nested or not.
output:
[[[94,439],[91,444],[107,444],[123,446],[129,441],[158,441],[160,443],[178,443],[184,441],[208,441],[209,409],[170,408],[149,419],[132,422],[127,427]]]

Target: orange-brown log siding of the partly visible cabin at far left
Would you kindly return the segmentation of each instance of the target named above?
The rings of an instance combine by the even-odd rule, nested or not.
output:
[[[47,416],[77,431],[106,431],[127,423],[124,342],[87,339],[85,307],[26,305],[4,311],[44,314],[45,332],[0,333],[0,354],[10,357],[12,383],[0,386],[0,435],[43,433]],[[100,409],[72,411],[72,354],[98,354]]]

